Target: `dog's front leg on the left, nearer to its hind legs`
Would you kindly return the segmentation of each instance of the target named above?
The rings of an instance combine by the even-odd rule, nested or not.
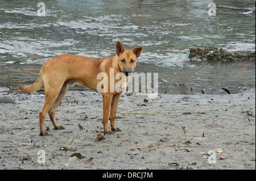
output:
[[[109,110],[110,110],[110,104],[112,101],[113,94],[112,93],[105,93],[102,92],[102,98],[103,98],[103,118],[102,118],[102,124],[104,126],[104,133],[105,134],[113,134],[114,132],[109,129]]]

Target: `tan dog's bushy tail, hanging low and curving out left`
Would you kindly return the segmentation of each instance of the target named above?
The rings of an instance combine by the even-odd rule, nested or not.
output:
[[[43,65],[42,68],[40,69],[38,79],[36,79],[35,83],[29,86],[19,86],[18,89],[24,92],[35,92],[39,90],[44,85],[44,81],[42,78],[44,69],[45,69],[45,65]]]

